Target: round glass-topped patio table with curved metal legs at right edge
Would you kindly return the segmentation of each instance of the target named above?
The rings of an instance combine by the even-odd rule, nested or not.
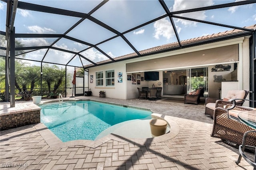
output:
[[[244,133],[243,136],[243,141],[242,141],[242,145],[239,146],[239,157],[238,160],[236,161],[236,164],[239,164],[241,161],[241,158],[243,157],[244,160],[246,160],[250,165],[252,165],[254,168],[254,170],[256,170],[256,147],[255,146],[248,146],[245,145],[246,142],[246,137],[249,133],[256,133],[256,110],[252,110],[252,111],[243,111],[240,112],[238,114],[238,119],[248,125],[251,128],[254,128],[255,130],[250,130]],[[245,154],[244,154],[244,150],[245,148],[248,149],[254,149],[254,162],[252,162]]]

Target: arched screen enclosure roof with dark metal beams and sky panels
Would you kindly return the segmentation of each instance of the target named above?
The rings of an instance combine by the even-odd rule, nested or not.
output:
[[[256,24],[255,9],[256,0],[1,0],[1,56],[6,26],[15,28],[16,58],[89,68],[252,35],[247,26]],[[183,43],[234,29],[239,32]]]

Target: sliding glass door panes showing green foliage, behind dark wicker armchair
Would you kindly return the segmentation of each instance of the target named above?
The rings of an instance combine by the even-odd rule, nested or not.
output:
[[[187,69],[187,93],[204,88],[204,97],[208,97],[208,68]]]

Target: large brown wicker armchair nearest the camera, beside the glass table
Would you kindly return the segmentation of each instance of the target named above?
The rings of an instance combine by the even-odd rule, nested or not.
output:
[[[227,105],[227,109],[217,107],[214,109],[212,137],[220,138],[224,142],[238,147],[242,144],[243,135],[249,130],[254,130],[237,119],[241,111],[253,110],[254,108],[237,105]],[[234,113],[232,113],[234,112]],[[228,114],[229,113],[229,114]],[[246,138],[246,145],[256,146],[256,133],[249,133]]]

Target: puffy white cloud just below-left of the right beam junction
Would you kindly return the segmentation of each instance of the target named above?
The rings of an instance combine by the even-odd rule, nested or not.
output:
[[[170,21],[166,20],[166,18],[163,18],[161,20],[154,22],[154,28],[155,28],[154,38],[156,39],[160,39],[160,36],[162,36],[167,40],[170,40],[175,35]],[[181,29],[177,27],[177,31],[180,32],[180,30]]]

